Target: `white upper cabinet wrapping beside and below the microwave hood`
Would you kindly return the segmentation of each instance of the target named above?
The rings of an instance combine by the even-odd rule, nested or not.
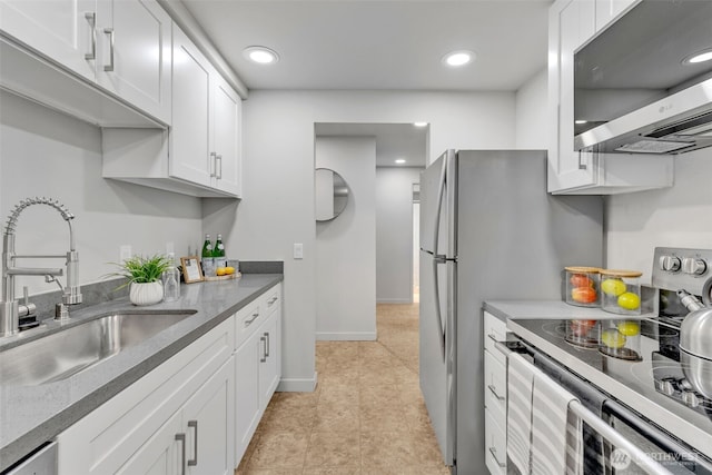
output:
[[[613,195],[670,187],[671,156],[574,150],[574,52],[635,0],[557,0],[548,16],[548,191]]]

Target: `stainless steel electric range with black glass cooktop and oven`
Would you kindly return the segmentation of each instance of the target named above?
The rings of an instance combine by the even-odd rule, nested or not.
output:
[[[712,250],[656,248],[653,260],[657,301],[653,313],[635,320],[640,359],[567,340],[565,319],[508,320],[512,340],[498,344],[503,352],[526,355],[581,402],[585,474],[712,475],[712,399],[685,377],[680,326],[688,310],[675,291],[710,291]]]

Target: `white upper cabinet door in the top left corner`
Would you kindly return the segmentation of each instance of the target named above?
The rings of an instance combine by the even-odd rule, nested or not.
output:
[[[95,80],[96,0],[0,0],[0,29]]]

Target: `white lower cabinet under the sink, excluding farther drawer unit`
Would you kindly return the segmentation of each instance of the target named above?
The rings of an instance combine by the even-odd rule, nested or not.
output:
[[[233,473],[234,347],[230,318],[61,433],[59,474]]]

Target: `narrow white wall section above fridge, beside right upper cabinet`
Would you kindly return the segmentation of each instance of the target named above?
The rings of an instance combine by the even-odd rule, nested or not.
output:
[[[546,68],[516,91],[516,148],[546,150],[548,145]]]

